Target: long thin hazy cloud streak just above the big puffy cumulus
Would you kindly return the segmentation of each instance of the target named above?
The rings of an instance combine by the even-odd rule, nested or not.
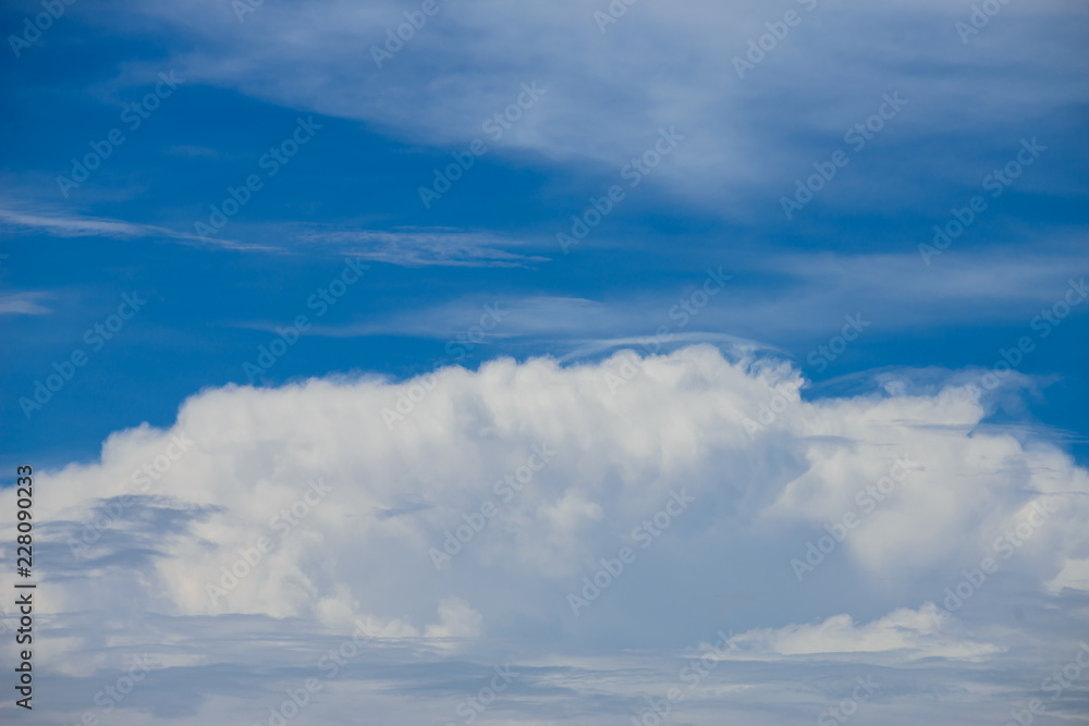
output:
[[[932,328],[935,320],[943,324],[978,324],[983,320],[1024,323],[1026,333],[1036,335],[1037,331],[1028,330],[1033,317],[1062,300],[1072,286],[1080,294],[1085,286],[1081,270],[1086,269],[1085,255],[1074,250],[1056,250],[1031,262],[1000,251],[960,255],[942,259],[932,268],[915,253],[787,254],[731,261],[732,267],[713,266],[733,276],[694,315],[686,313],[678,303],[693,309],[689,296],[703,279],[698,268],[687,280],[653,292],[613,293],[603,299],[498,292],[396,310],[381,320],[317,325],[311,334],[449,340],[465,333],[480,317],[484,305],[499,305],[505,313],[486,333],[487,341],[547,341],[550,350],[572,349],[563,359],[617,346],[657,352],[660,343],[760,347],[757,340],[779,344],[812,340],[820,331],[824,331],[823,336],[836,334],[844,327],[845,315],[860,318],[867,336]],[[1072,306],[1073,316],[1086,312],[1089,306]],[[668,327],[669,335],[656,341],[662,325]],[[1010,341],[1015,343],[1016,339]]]

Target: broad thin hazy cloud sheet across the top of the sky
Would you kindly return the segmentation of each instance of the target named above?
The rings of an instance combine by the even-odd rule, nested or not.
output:
[[[656,174],[683,197],[739,216],[751,213],[754,194],[778,199],[794,179],[812,173],[811,162],[851,148],[845,131],[874,113],[882,94],[898,91],[909,102],[882,132],[882,145],[927,140],[940,123],[942,133],[963,133],[1004,153],[1080,93],[1074,78],[1086,59],[1077,52],[1077,24],[1057,2],[1004,7],[969,47],[954,28],[967,8],[934,0],[879,9],[819,2],[812,11],[804,9],[808,2],[790,4],[802,24],[744,79],[732,59],[767,34],[766,23],[780,20],[782,9],[644,2],[602,33],[594,13],[608,3],[440,2],[440,12],[379,69],[370,49],[405,23],[399,3],[262,7],[242,24],[230,5],[213,0],[140,7],[169,28],[171,40],[185,38],[171,65],[187,82],[363,120],[413,143],[461,147],[488,139],[484,122],[533,81],[547,95],[495,146],[598,164],[614,175],[649,148],[659,127],[675,125],[686,138]],[[103,22],[143,27],[132,5],[124,8]],[[994,93],[996,77],[1002,94]],[[992,135],[982,139],[984,125]],[[824,197],[902,205],[932,186],[928,159],[904,155],[892,184],[845,173]],[[939,173],[977,183],[978,165],[946,161]]]

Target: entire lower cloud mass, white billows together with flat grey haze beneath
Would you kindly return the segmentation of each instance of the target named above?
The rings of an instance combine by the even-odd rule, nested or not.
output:
[[[626,724],[676,686],[674,723],[812,723],[868,676],[869,723],[1001,719],[1085,630],[1089,476],[981,426],[966,386],[805,401],[798,381],[695,346],[205,391],[40,472],[50,707],[76,721],[148,653],[115,723],[267,723],[307,677],[296,723],[466,723],[504,665],[484,721]],[[443,557],[448,531],[466,541]]]

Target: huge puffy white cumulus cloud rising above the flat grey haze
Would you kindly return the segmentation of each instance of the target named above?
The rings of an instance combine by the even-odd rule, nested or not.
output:
[[[194,678],[266,661],[258,633],[281,627],[276,623],[315,643],[307,648],[328,649],[353,623],[369,620],[376,636],[368,648],[377,650],[329,687],[342,693],[368,668],[400,664],[403,677],[429,693],[415,705],[382,701],[389,717],[401,714],[404,723],[424,719],[405,715],[414,709],[449,717],[469,688],[437,685],[423,663],[432,670],[450,657],[500,665],[511,649],[531,668],[524,688],[535,696],[507,702],[503,713],[529,723],[534,698],[555,687],[540,668],[614,657],[579,675],[580,698],[602,699],[598,715],[637,713],[636,693],[608,685],[610,670],[641,667],[635,655],[610,656],[616,642],[669,643],[676,652],[727,625],[743,633],[734,643],[747,657],[783,670],[746,681],[723,664],[717,685],[694,694],[693,718],[739,707],[737,699],[780,698],[773,684],[790,680],[798,659],[820,654],[835,654],[846,670],[882,654],[883,667],[904,668],[905,684],[916,678],[908,674],[918,659],[956,662],[956,678],[968,684],[971,664],[1000,651],[1017,651],[1018,667],[1042,667],[1039,659],[1050,656],[1017,650],[1032,638],[1062,647],[1031,624],[990,624],[1016,603],[1050,607],[1052,581],[1080,567],[1072,561],[1087,546],[1089,478],[1039,439],[979,427],[984,409],[970,391],[793,396],[750,438],[745,419],[776,385],[796,380],[788,366],[695,346],[644,359],[613,392],[605,376],[619,365],[620,357],[567,367],[493,360],[477,372],[451,370],[423,398],[424,381],[375,378],[207,390],[185,402],[169,430],[121,431],[99,462],[38,473],[35,513],[50,593],[41,615],[68,614],[54,628],[77,617],[146,623],[139,628],[149,630],[133,631],[142,643],[163,642],[167,629],[171,657],[201,652],[197,641],[209,631],[254,633],[237,655],[213,648],[203,664],[186,662]],[[391,430],[382,409],[402,394],[416,403]],[[521,491],[502,494],[504,477],[534,446],[553,455]],[[790,559],[904,452],[911,468],[895,493],[797,582]],[[143,479],[142,470],[157,479]],[[137,496],[124,499],[131,491]],[[633,530],[648,521],[662,528],[656,513],[674,491],[693,503],[645,538],[644,549]],[[13,496],[2,490],[0,506],[12,509]],[[1061,512],[1002,561],[954,618],[939,627],[930,605],[919,608],[941,601],[963,569],[993,554],[994,537],[1044,499]],[[474,516],[486,510],[493,515]],[[78,543],[88,532],[86,556],[73,554],[70,538]],[[463,545],[437,570],[428,551],[443,547],[448,532]],[[13,536],[11,522],[0,528],[2,541]],[[622,547],[632,547],[634,561],[572,615],[567,594]],[[224,569],[235,570],[236,585]],[[0,586],[11,577],[0,576]],[[227,592],[212,602],[209,583]],[[1060,612],[1049,617],[1060,618],[1061,629],[1079,627],[1077,612]],[[798,623],[809,625],[788,625]],[[73,673],[94,673],[100,662],[102,645],[88,630],[99,631],[58,633],[84,639],[73,657],[87,665]],[[647,657],[659,669],[647,688],[676,682],[671,656]],[[307,667],[304,659],[296,670],[267,677],[283,682]],[[738,682],[750,687],[738,690]],[[271,700],[262,693],[247,697],[253,711]],[[354,698],[337,703],[348,709]],[[794,698],[813,704],[823,696]],[[806,713],[787,709],[779,723],[811,719]]]

